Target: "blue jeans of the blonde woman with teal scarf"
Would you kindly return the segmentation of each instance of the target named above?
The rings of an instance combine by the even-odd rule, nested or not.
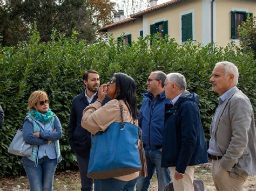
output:
[[[44,156],[38,160],[37,167],[27,164],[26,162],[23,162],[23,166],[29,178],[31,191],[52,190],[53,176],[57,167],[57,159],[49,159],[47,156]]]

